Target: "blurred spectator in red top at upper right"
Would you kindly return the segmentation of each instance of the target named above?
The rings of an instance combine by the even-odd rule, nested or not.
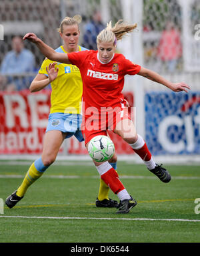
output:
[[[167,64],[167,70],[174,72],[177,61],[182,55],[181,34],[171,21],[167,22],[166,29],[161,34],[157,55]]]

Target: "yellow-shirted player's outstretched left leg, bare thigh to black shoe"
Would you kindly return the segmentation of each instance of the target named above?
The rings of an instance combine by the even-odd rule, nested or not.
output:
[[[27,188],[55,161],[64,139],[65,134],[59,130],[51,130],[45,134],[42,156],[31,164],[19,188],[7,197],[5,203],[9,208],[14,207],[24,197]]]

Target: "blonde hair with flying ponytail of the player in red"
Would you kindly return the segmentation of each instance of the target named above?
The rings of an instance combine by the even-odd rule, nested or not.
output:
[[[117,44],[117,40],[121,40],[125,34],[131,33],[137,27],[137,23],[129,24],[124,22],[122,19],[115,23],[112,27],[112,21],[107,23],[107,27],[103,29],[99,35],[97,35],[97,44],[102,41],[112,42],[114,45]]]

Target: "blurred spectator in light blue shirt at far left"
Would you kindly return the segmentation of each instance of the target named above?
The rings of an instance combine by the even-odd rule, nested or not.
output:
[[[24,76],[27,72],[34,72],[35,56],[24,48],[23,39],[15,36],[12,39],[12,50],[9,51],[1,63],[0,73],[7,78],[0,78],[0,88],[3,90],[23,90],[29,87],[31,78]],[[19,76],[22,74],[22,76]],[[7,76],[11,75],[11,76]],[[6,85],[5,85],[6,84]]]

